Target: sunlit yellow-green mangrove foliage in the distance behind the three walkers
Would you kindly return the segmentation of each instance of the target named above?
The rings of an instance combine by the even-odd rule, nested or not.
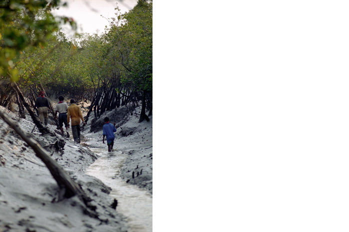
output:
[[[100,43],[97,35],[84,34],[78,42],[57,31],[46,39],[45,46],[28,47],[20,52],[16,67],[27,70],[21,75],[20,84],[41,82],[57,94],[83,95],[93,89]]]

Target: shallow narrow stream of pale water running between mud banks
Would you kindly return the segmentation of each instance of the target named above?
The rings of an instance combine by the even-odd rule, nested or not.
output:
[[[152,195],[137,186],[127,184],[119,173],[127,154],[90,148],[99,158],[88,167],[86,174],[101,180],[112,190],[110,196],[117,200],[116,211],[127,217],[128,232],[152,231]]]

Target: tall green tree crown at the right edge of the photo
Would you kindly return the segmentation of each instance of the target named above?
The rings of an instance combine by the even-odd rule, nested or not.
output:
[[[152,2],[138,0],[133,9],[118,15],[104,39],[122,83],[152,91]]]

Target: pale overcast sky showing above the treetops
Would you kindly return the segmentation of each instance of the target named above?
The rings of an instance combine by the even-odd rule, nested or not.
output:
[[[67,2],[67,7],[60,7],[58,10],[54,10],[53,14],[72,17],[77,23],[77,32],[91,34],[99,30],[100,34],[104,31],[104,27],[109,24],[103,17],[108,18],[115,15],[116,2],[121,12],[125,12],[132,9],[137,0],[69,0]],[[62,30],[69,37],[73,34],[66,25],[62,27]]]

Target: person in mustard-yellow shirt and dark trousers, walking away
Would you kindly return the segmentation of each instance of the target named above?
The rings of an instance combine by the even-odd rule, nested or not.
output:
[[[86,123],[83,120],[80,107],[75,104],[74,99],[70,99],[70,106],[67,110],[67,122],[71,119],[71,132],[74,142],[80,143],[80,119],[82,120],[83,125]]]

